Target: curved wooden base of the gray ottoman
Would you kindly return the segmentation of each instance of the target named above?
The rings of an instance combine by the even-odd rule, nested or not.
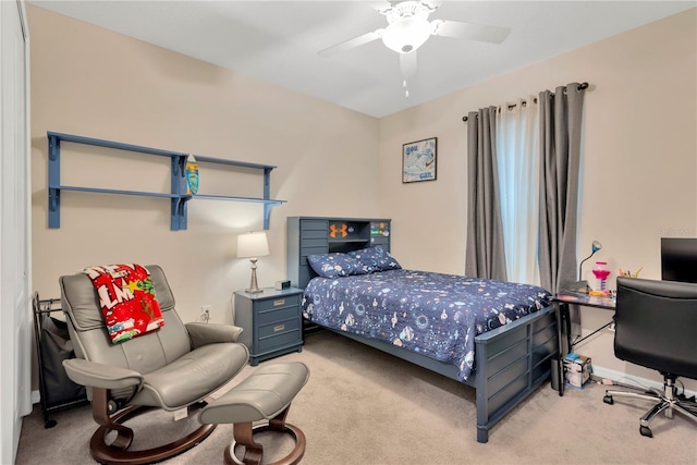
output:
[[[290,405],[266,425],[258,425],[253,428],[252,421],[234,424],[233,440],[225,449],[225,463],[229,465],[261,465],[264,446],[254,440],[254,433],[269,430],[290,435],[295,441],[295,448],[283,458],[268,465],[295,465],[299,463],[305,455],[306,440],[305,435],[298,427],[285,423],[289,408]],[[235,455],[237,445],[245,448],[242,462]]]

